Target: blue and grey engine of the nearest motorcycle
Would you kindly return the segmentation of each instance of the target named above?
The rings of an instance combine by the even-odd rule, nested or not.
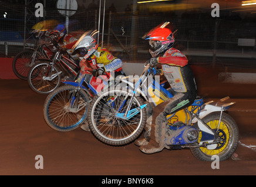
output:
[[[198,130],[194,127],[176,122],[166,132],[165,143],[168,146],[191,144],[197,141],[198,134]]]

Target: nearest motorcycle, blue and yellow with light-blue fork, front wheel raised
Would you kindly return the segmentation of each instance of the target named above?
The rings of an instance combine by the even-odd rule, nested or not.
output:
[[[146,65],[137,81],[124,78],[124,86],[93,98],[88,120],[92,133],[100,141],[113,146],[132,142],[142,133],[146,121],[150,123],[146,109],[173,97],[157,81],[156,73],[154,67]],[[238,146],[239,133],[234,119],[225,113],[234,104],[225,103],[227,99],[204,103],[197,96],[191,106],[167,116],[165,147],[190,148],[194,157],[202,161],[211,161],[213,155],[218,155],[220,161],[230,158]],[[147,129],[146,138],[150,134],[149,125]]]

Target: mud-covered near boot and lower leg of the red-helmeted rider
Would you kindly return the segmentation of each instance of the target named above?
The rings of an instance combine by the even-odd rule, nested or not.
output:
[[[156,118],[156,124],[151,126],[150,141],[148,144],[140,146],[140,151],[146,154],[160,152],[164,148],[164,134],[166,134],[166,122],[159,120],[163,117],[161,113]]]

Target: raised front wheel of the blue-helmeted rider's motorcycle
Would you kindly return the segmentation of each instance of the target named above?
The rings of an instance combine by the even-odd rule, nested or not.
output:
[[[52,80],[45,79],[49,77],[47,72],[47,65],[49,61],[39,61],[32,66],[28,73],[28,84],[30,88],[39,94],[49,94],[54,91],[61,83],[61,73],[56,65],[53,65],[52,74],[57,74]]]

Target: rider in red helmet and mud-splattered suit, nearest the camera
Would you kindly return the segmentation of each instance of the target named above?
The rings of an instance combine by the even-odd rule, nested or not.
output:
[[[164,77],[171,85],[173,94],[173,98],[160,103],[153,109],[150,141],[142,139],[135,142],[143,153],[152,154],[164,148],[166,116],[190,106],[196,99],[197,88],[186,56],[172,47],[175,39],[170,29],[170,22],[150,30],[143,39],[149,40],[149,52],[153,57],[147,61],[147,64],[151,66],[161,64]]]

